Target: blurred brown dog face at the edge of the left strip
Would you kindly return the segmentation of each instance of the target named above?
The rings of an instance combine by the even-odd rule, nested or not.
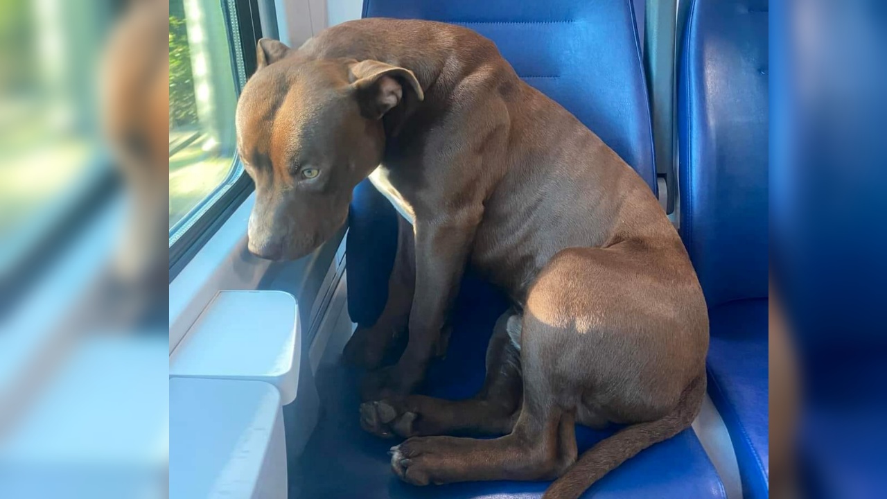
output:
[[[135,281],[162,275],[168,246],[169,4],[138,0],[110,37],[101,73],[106,137],[132,196],[118,270]]]

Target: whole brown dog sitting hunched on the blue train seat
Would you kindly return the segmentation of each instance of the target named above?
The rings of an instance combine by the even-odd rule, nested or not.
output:
[[[678,234],[634,170],[522,83],[494,44],[446,24],[372,19],[297,51],[263,40],[258,54],[237,113],[256,186],[249,248],[310,252],[371,173],[412,219],[412,301],[389,303],[384,330],[365,331],[384,339],[409,317],[400,360],[373,376],[382,400],[362,408],[368,430],[412,437],[392,448],[401,479],[561,477],[546,496],[577,497],[691,424],[708,318]],[[408,396],[445,347],[469,263],[514,304],[496,325],[483,390]],[[577,422],[629,425],[577,460]],[[457,430],[505,436],[425,436]]]

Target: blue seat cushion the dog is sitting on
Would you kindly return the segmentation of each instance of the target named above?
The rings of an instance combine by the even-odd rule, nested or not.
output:
[[[349,281],[350,285],[350,281]],[[450,350],[428,370],[421,392],[460,399],[473,396],[484,376],[484,357],[493,324],[506,310],[505,297],[468,273],[453,315]],[[360,429],[358,373],[321,368],[317,376],[322,416],[302,458],[290,464],[291,497],[366,499],[441,497],[541,497],[548,482],[469,482],[413,487],[389,467],[388,449],[399,440],[381,440]],[[580,452],[611,432],[577,427]],[[725,497],[723,485],[692,430],[648,448],[589,489],[584,497]]]

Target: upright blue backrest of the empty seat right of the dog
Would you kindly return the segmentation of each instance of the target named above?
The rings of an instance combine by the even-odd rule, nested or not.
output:
[[[709,306],[767,296],[767,0],[693,0],[679,67],[680,230]]]

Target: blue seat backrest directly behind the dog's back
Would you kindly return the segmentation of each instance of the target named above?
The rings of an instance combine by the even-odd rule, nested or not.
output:
[[[576,115],[656,192],[632,0],[364,0],[364,17],[437,20],[490,38],[525,82]]]

